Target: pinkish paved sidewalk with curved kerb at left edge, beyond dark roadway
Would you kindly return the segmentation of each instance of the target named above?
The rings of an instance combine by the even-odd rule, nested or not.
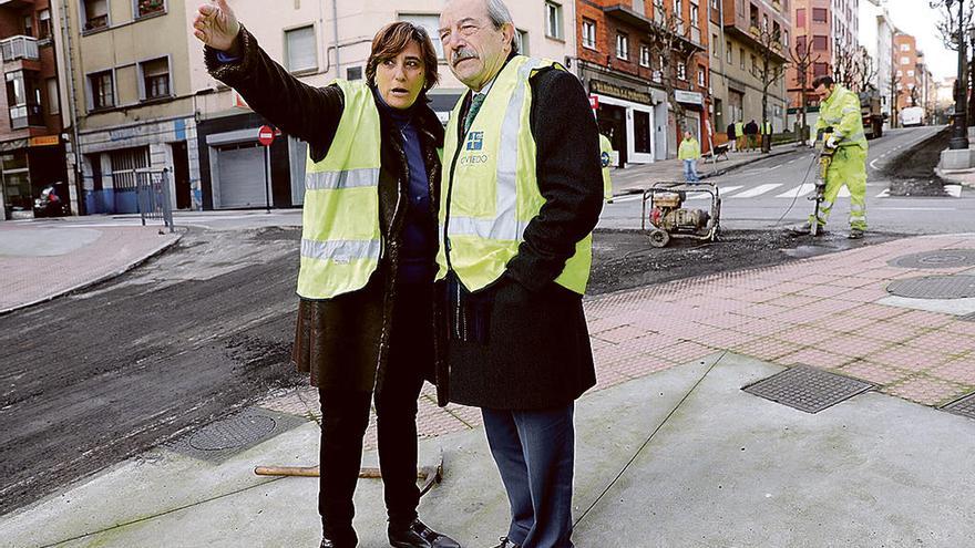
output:
[[[0,314],[111,279],[179,238],[160,227],[0,223]]]

